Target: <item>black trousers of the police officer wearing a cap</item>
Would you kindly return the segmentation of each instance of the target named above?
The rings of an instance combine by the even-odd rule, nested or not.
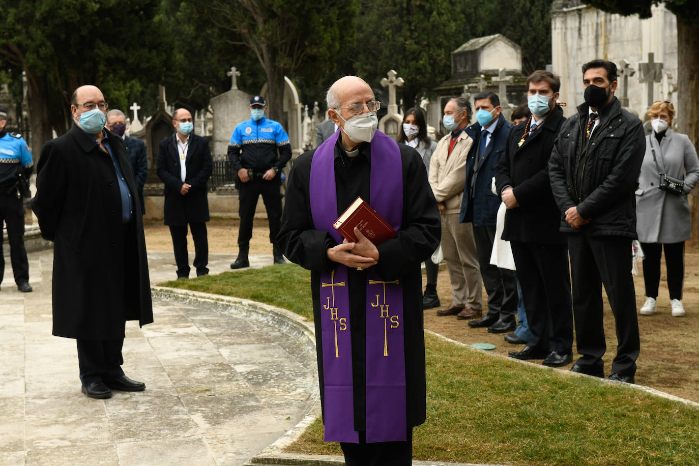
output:
[[[274,242],[279,233],[282,219],[282,194],[280,175],[276,175],[269,181],[261,177],[254,177],[247,183],[240,183],[238,189],[238,199],[240,200],[240,228],[238,229],[238,246],[247,247],[252,238],[252,220],[255,217],[257,200],[260,194],[267,210],[269,220],[269,242]]]

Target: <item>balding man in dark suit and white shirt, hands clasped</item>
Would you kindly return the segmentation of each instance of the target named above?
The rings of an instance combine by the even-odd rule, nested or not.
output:
[[[192,114],[186,108],[173,113],[175,134],[158,145],[157,172],[165,183],[165,224],[170,226],[175,249],[178,279],[189,278],[187,224],[194,239],[196,276],[206,275],[209,245],[206,222],[209,221],[208,187],[213,170],[209,141],[192,133]]]

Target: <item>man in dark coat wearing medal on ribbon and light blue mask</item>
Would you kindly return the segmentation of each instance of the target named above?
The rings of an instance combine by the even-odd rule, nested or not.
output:
[[[495,168],[496,189],[507,206],[503,240],[510,241],[530,336],[511,358],[572,361],[572,303],[568,242],[549,182],[549,157],[565,121],[556,105],[561,80],[549,71],[527,79],[531,115],[514,126]]]

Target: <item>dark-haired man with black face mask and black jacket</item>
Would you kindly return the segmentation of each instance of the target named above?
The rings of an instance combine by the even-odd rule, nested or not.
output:
[[[606,351],[602,284],[617,324],[610,379],[633,384],[640,351],[631,241],[636,235],[634,191],[645,152],[640,119],[614,96],[617,66],[582,66],[585,103],[561,127],[549,159],[549,179],[568,233],[577,351],[573,372],[604,377]]]

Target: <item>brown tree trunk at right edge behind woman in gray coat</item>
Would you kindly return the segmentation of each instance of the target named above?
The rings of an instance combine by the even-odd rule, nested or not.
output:
[[[679,121],[679,132],[689,136],[694,147],[699,142],[699,112],[696,103],[699,101],[699,27],[685,22],[677,16],[677,63],[678,80],[677,95],[681,115],[676,115]],[[692,238],[688,246],[699,245],[699,194],[694,189],[689,195],[689,209],[692,217]]]

